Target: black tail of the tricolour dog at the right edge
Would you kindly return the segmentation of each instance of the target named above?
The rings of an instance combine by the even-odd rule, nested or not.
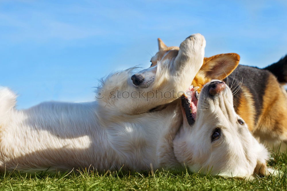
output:
[[[269,65],[263,69],[273,73],[280,83],[287,83],[287,54],[278,62]]]

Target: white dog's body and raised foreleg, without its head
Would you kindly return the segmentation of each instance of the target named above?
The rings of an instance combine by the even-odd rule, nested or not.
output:
[[[177,98],[111,99],[110,92],[135,92],[137,96],[141,91],[143,95],[155,90],[183,91],[203,63],[204,47],[202,35],[188,37],[174,61],[159,63],[155,81],[147,88],[131,84],[132,69],[110,75],[98,88],[104,98],[94,102],[44,102],[27,110],[15,110],[15,95],[3,89],[0,169],[17,167],[34,172],[92,165],[103,171],[124,165],[125,169],[141,171],[149,169],[150,163],[154,168],[174,166],[170,147],[182,120],[178,106],[171,103],[161,112],[148,111]]]

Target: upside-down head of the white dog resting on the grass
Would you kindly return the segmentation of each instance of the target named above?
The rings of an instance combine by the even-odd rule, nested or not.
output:
[[[257,165],[262,165],[260,172],[255,170],[257,174],[270,175],[266,167],[267,149],[251,135],[246,124],[238,123],[241,118],[234,111],[230,88],[226,85],[219,95],[211,96],[209,84],[201,90],[195,124],[189,126],[184,119],[174,139],[178,161],[191,171],[212,175],[249,179]],[[221,129],[221,137],[211,141],[215,128]]]

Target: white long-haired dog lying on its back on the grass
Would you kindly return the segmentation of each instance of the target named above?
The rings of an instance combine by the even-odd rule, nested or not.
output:
[[[204,37],[193,34],[177,55],[155,67],[108,76],[98,88],[102,97],[94,102],[44,102],[16,110],[15,94],[1,89],[0,170],[52,173],[92,166],[145,171],[152,165],[242,178],[268,174],[268,153],[239,124],[228,88],[213,98],[201,93],[199,104],[211,109],[199,111],[194,125],[186,123],[178,98],[192,91],[185,90],[203,64],[204,48]],[[150,95],[159,91],[171,96]],[[123,92],[130,96],[124,98]]]

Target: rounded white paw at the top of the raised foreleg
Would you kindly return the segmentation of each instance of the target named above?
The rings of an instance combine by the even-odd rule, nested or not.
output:
[[[205,38],[196,33],[187,37],[179,46],[179,49],[186,53],[204,54]]]

